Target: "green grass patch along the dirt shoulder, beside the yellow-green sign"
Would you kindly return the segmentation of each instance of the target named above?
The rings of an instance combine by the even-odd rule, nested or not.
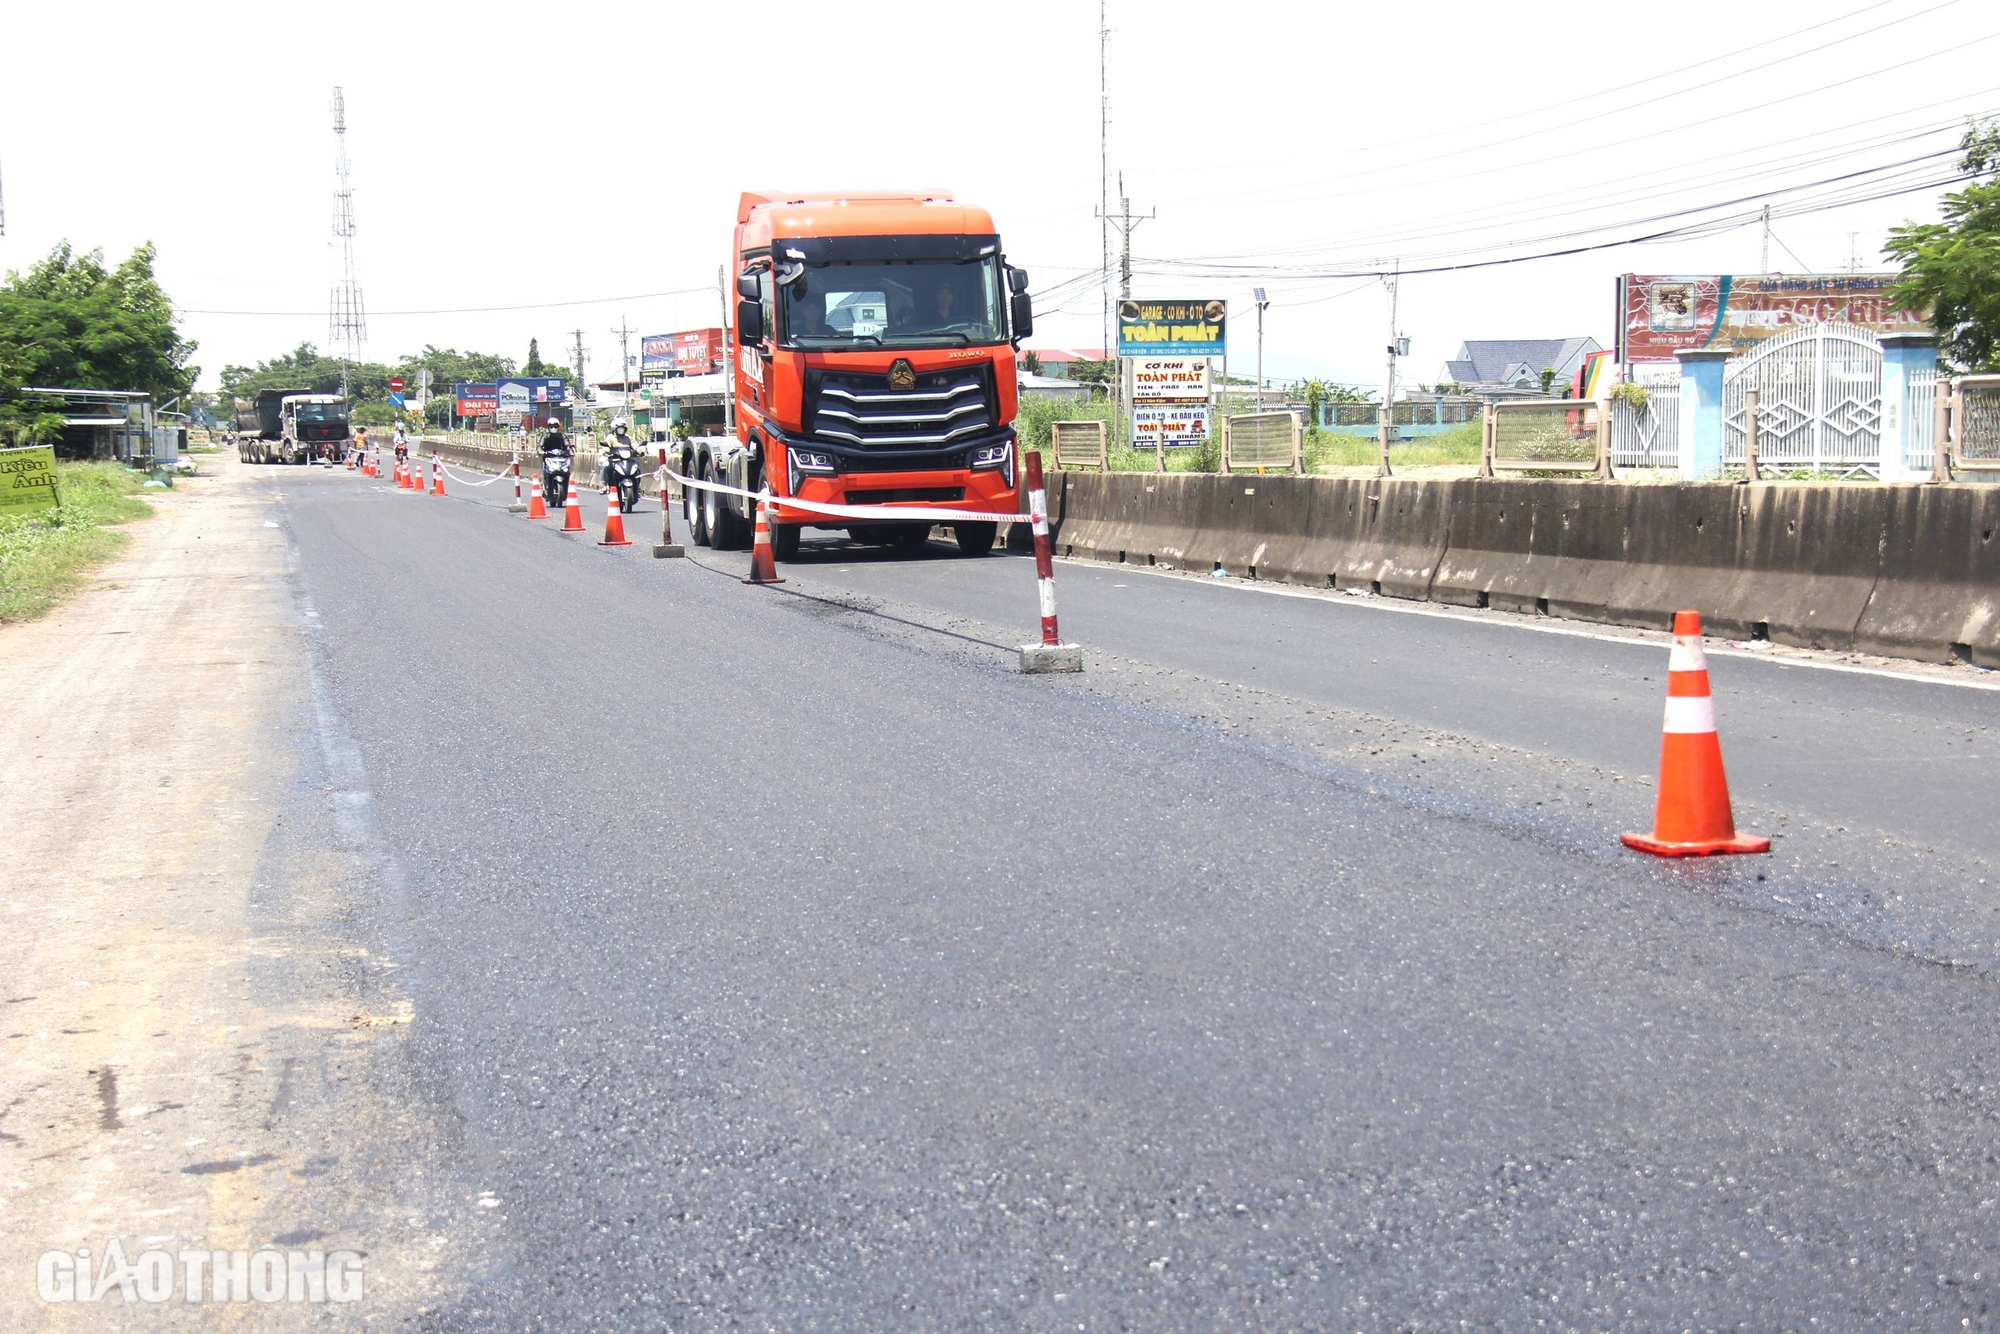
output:
[[[0,518],[0,622],[28,620],[82,584],[84,570],[124,550],[126,524],[152,514],[140,476],[122,464],[56,464],[62,504],[34,518]]]

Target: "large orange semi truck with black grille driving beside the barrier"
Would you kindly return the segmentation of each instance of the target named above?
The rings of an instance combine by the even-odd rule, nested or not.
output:
[[[758,192],[736,206],[730,266],[734,436],[682,446],[682,476],[770,488],[772,550],[802,528],[914,546],[930,524],[836,518],[818,500],[1012,514],[1018,508],[1014,354],[1034,332],[1028,274],[992,216],[946,192]],[[754,504],[686,490],[706,546],[750,542]],[[984,554],[994,524],[954,524]]]

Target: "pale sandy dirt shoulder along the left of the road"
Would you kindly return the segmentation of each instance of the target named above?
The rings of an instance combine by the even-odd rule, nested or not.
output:
[[[366,788],[316,708],[288,470],[204,472],[0,630],[0,1328],[406,1324],[472,1204],[426,1174],[414,1008],[366,936],[380,858],[342,820]],[[188,1304],[176,1264],[158,1306],[40,1300],[38,1254],[110,1238],[348,1248],[364,1298]]]

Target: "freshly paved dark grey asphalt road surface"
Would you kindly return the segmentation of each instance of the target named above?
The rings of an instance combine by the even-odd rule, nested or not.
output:
[[[1662,868],[1636,784],[1536,822],[1478,748],[1390,780],[1200,694],[1640,776],[1658,646],[1066,564],[1118,670],[1024,678],[1020,558],[758,590],[652,504],[608,552],[270,488],[430,1170],[500,1200],[440,1328],[1994,1324],[1992,694],[1718,660],[1810,856]],[[1814,894],[1878,916],[1764,902]]]

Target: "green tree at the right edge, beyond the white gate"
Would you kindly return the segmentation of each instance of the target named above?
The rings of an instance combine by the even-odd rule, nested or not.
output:
[[[1884,250],[1902,266],[1890,300],[1930,312],[1938,352],[1964,372],[2000,370],[2000,120],[1970,122],[1960,170],[1984,176],[1944,196],[1944,222],[1910,222]]]

